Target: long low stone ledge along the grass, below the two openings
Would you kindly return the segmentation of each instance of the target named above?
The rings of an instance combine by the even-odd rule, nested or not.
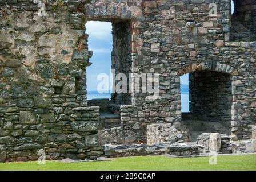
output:
[[[187,145],[182,143],[159,144],[154,146],[148,145],[130,145],[130,146],[113,146],[105,145],[105,155],[109,157],[123,156],[145,156],[145,155],[162,155],[170,154],[175,156],[196,156],[199,155],[201,149],[195,145]]]

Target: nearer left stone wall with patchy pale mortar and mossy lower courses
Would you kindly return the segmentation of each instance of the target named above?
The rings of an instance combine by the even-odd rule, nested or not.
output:
[[[78,3],[0,1],[1,161],[101,155],[99,107],[87,107],[90,65]],[[79,11],[81,12],[81,11]]]

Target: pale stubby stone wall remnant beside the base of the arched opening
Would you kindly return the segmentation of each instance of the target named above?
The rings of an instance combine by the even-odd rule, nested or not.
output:
[[[187,133],[178,131],[171,123],[147,125],[148,145],[175,143],[183,140],[187,142]]]

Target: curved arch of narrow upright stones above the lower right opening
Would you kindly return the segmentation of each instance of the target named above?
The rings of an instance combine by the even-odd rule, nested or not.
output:
[[[226,64],[222,64],[218,61],[203,61],[201,63],[193,63],[188,66],[182,67],[178,70],[178,75],[182,76],[187,73],[193,73],[195,71],[214,71],[220,73],[227,73],[231,76],[237,76],[238,71],[234,67]]]

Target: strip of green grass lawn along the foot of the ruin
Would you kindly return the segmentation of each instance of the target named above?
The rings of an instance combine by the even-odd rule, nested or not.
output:
[[[144,171],[144,170],[253,170],[256,171],[256,155],[221,155],[217,165],[209,164],[209,157],[168,158],[166,156],[141,156],[115,158],[112,161],[62,163],[46,161],[46,165],[37,162],[0,163],[0,170],[82,170],[82,171]]]

